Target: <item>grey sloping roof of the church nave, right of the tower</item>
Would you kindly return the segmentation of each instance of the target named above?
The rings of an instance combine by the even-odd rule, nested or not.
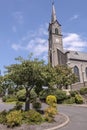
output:
[[[79,51],[67,51],[67,53],[70,60],[87,61],[87,53]]]

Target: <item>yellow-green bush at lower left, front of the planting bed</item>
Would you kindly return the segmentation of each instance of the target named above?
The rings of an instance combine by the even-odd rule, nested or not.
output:
[[[8,127],[14,127],[21,125],[22,123],[22,114],[21,111],[11,111],[9,114],[6,116],[7,119],[7,126]]]

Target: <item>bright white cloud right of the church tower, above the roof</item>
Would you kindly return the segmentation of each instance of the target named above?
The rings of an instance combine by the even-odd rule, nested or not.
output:
[[[85,41],[79,34],[68,33],[63,38],[64,48],[68,50],[84,51],[87,47],[87,41]]]

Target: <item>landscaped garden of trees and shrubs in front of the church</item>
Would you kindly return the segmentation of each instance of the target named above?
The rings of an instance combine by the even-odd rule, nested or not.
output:
[[[6,73],[0,76],[0,96],[14,108],[0,112],[0,123],[7,127],[22,124],[55,122],[59,114],[57,104],[82,104],[84,90],[70,91],[67,88],[77,82],[77,77],[67,66],[51,67],[38,59],[16,58],[17,63],[6,66]],[[42,103],[47,104],[42,108]]]

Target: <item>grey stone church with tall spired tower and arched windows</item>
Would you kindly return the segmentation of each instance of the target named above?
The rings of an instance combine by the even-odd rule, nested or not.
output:
[[[78,76],[79,83],[84,86],[87,82],[87,53],[64,50],[61,24],[57,20],[54,3],[52,4],[51,22],[49,23],[49,47],[48,61],[54,67],[56,65],[68,65]]]

